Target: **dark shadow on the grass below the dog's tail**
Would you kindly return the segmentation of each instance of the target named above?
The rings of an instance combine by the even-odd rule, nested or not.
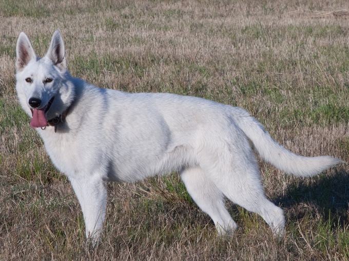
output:
[[[349,176],[343,168],[334,175],[295,178],[283,195],[273,202],[285,210],[290,220],[318,216],[334,226],[349,223]]]

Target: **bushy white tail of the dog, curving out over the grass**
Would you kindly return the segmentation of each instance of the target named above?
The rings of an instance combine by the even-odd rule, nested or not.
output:
[[[309,177],[323,170],[344,163],[340,159],[329,156],[302,157],[292,153],[273,140],[266,132],[263,125],[248,112],[241,109],[237,113],[237,125],[250,139],[259,155],[280,170],[295,176]]]

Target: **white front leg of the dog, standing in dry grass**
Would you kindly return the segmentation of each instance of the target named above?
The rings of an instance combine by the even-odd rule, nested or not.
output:
[[[82,208],[86,237],[93,246],[101,240],[102,225],[107,205],[107,189],[101,177],[69,178]]]

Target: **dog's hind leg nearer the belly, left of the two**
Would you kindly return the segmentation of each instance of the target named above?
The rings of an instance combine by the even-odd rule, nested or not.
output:
[[[188,167],[181,172],[181,178],[191,198],[215,222],[219,234],[232,234],[237,224],[224,206],[220,190],[205,175],[200,167]]]

